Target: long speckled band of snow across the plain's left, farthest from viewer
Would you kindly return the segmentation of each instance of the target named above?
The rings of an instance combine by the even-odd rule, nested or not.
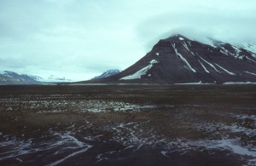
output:
[[[36,112],[38,114],[58,114],[61,112],[69,112],[69,110],[73,110],[73,112],[141,112],[145,110],[154,109],[155,105],[137,105],[130,102],[122,102],[115,100],[79,100],[78,98],[73,98],[73,100],[68,100],[69,95],[50,95],[55,100],[49,101],[47,100],[48,96],[42,95],[34,95],[34,99],[27,96],[26,99],[29,100],[18,102],[14,105],[13,102],[16,100],[15,98],[11,98],[10,100],[0,100],[0,112],[9,111],[15,112],[19,109],[29,109],[32,112]],[[5,103],[5,106],[3,106]],[[24,106],[22,108],[18,106]],[[12,117],[15,122],[19,120],[17,117]]]

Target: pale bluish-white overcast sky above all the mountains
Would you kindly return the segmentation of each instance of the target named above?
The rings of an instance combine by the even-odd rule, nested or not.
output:
[[[0,70],[76,80],[182,33],[256,43],[255,0],[0,0]]]

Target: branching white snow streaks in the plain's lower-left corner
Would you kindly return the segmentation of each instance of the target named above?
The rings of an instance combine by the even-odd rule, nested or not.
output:
[[[8,135],[5,136],[8,138]],[[79,153],[87,152],[92,147],[91,145],[75,138],[71,132],[61,134],[52,130],[49,130],[48,135],[40,138],[32,138],[29,140],[9,138],[8,140],[0,141],[0,145],[2,148],[5,147],[7,149],[12,149],[9,152],[1,153],[0,161],[15,157],[15,159],[22,163],[23,161],[19,157],[32,155],[36,152],[47,153],[55,151],[55,156],[59,156],[61,159],[47,164],[50,166],[63,163],[68,158],[76,156]],[[63,147],[69,149],[70,153],[66,154],[62,149]]]

